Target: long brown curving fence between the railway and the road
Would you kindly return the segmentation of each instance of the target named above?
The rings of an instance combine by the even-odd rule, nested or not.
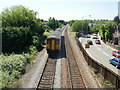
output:
[[[85,57],[86,62],[89,66],[93,67],[95,69],[96,73],[100,73],[105,80],[108,80],[111,82],[116,88],[120,88],[120,76],[114,73],[112,70],[108,69],[101,63],[98,63],[96,60],[91,58],[85,49],[83,48],[82,44],[80,43],[79,39],[76,37],[76,42],[78,47],[83,53],[83,56]]]

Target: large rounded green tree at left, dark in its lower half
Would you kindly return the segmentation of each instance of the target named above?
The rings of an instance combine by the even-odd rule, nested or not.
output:
[[[42,23],[36,18],[37,12],[24,6],[13,6],[2,13],[3,52],[15,52],[33,44],[33,36],[44,37]],[[39,44],[42,43],[38,40]],[[38,46],[41,47],[41,46]]]

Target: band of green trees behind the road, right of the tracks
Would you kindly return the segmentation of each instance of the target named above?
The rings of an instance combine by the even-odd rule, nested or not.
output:
[[[103,40],[112,40],[113,33],[116,30],[118,20],[114,19],[113,21],[109,20],[75,20],[71,21],[72,30],[80,33],[88,34],[88,33],[99,33]],[[90,24],[90,25],[89,25]]]

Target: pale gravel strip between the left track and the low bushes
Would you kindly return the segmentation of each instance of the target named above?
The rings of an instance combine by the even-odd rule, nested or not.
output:
[[[27,71],[27,73],[21,77],[20,79],[20,81],[22,82],[21,88],[37,87],[39,78],[41,76],[47,58],[48,54],[46,53],[45,49],[39,52],[38,56],[34,60],[34,64],[31,66],[29,71]]]

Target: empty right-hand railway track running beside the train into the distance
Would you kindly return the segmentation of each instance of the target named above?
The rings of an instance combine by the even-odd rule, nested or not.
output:
[[[68,38],[67,29],[65,30],[65,44],[68,59],[68,70],[70,76],[70,88],[86,88],[84,79],[75,60],[74,53]]]

